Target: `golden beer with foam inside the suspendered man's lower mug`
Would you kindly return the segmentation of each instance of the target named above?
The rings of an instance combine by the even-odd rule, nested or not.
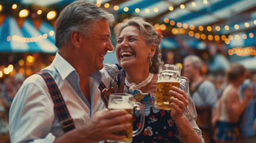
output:
[[[118,106],[116,106],[115,104],[110,104],[109,105],[109,110],[116,110],[116,109],[124,109],[126,111],[127,114],[133,114],[133,105],[124,105],[124,104],[119,104]],[[113,134],[115,135],[119,135],[119,136],[126,136],[125,139],[123,139],[122,141],[109,141],[108,142],[132,142],[132,119],[129,120],[128,122],[122,122],[121,124],[125,124],[125,123],[131,123],[131,127],[127,130],[121,130],[119,132],[115,132]]]

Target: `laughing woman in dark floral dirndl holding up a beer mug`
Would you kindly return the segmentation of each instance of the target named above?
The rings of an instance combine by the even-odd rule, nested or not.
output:
[[[104,67],[112,74],[111,85],[119,85],[118,92],[134,95],[144,105],[146,113],[143,131],[133,142],[204,142],[201,130],[196,125],[196,111],[190,95],[173,88],[170,91],[174,110],[159,110],[153,106],[156,96],[158,67],[161,60],[162,36],[144,18],[133,17],[119,23],[115,29],[116,57],[122,69],[113,65]],[[124,71],[124,72],[122,72]],[[118,80],[117,75],[121,75]],[[116,90],[117,92],[117,90]],[[134,129],[138,126],[140,111],[134,112]]]

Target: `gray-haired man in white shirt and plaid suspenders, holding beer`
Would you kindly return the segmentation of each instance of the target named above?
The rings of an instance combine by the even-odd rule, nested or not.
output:
[[[112,132],[128,129],[130,123],[120,123],[132,116],[125,110],[107,110],[98,90],[101,80],[108,78],[101,70],[104,55],[113,50],[110,21],[112,14],[84,0],[74,1],[61,11],[55,27],[59,51],[51,65],[42,69],[44,77],[53,80],[44,80],[41,71],[41,75],[33,74],[23,82],[10,109],[11,142],[77,143],[125,138]],[[47,85],[57,87],[50,93]],[[52,99],[52,95],[58,97]],[[60,122],[58,117],[64,120]]]

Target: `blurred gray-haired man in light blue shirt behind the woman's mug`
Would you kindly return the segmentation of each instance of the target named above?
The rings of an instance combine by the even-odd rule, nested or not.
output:
[[[212,124],[216,120],[216,107],[218,102],[214,84],[202,76],[203,61],[196,55],[184,58],[184,74],[190,80],[190,94],[198,113],[196,123],[202,129],[205,142],[212,142]]]

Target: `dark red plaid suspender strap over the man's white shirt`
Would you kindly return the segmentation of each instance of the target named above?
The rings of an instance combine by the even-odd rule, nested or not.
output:
[[[60,90],[58,89],[58,86],[56,85],[53,77],[47,71],[39,71],[37,74],[41,75],[47,84],[51,99],[54,103],[54,110],[58,116],[60,125],[63,128],[63,132],[66,133],[69,130],[75,129],[75,120],[70,116],[66,103],[63,100]]]

